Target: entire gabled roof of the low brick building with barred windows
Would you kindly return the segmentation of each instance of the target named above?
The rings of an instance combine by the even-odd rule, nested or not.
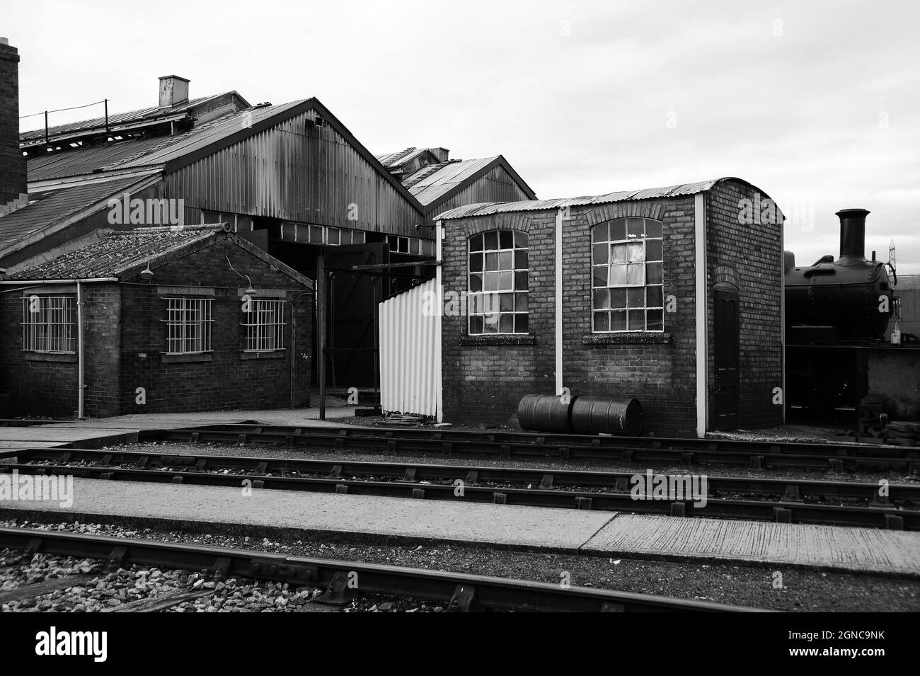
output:
[[[155,270],[206,246],[229,240],[309,288],[313,282],[277,258],[230,232],[226,223],[98,230],[97,239],[50,260],[21,269],[4,281],[131,279],[148,265]]]

